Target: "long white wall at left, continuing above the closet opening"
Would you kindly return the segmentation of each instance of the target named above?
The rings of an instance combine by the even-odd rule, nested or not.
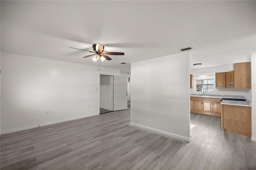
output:
[[[98,67],[4,52],[1,66],[1,134],[99,114]]]

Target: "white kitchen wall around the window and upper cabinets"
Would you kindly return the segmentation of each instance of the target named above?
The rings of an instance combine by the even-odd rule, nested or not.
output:
[[[240,51],[231,54],[232,60],[230,64],[221,65],[218,67],[204,67],[198,69],[190,69],[190,74],[202,74],[202,73],[220,73],[234,70],[233,63],[243,63],[251,61],[251,51]],[[198,93],[198,92],[196,92]],[[203,93],[203,92],[202,92]],[[195,94],[195,86],[190,88],[190,94]],[[213,95],[242,95],[252,101],[252,89],[229,89],[229,88],[215,88]]]

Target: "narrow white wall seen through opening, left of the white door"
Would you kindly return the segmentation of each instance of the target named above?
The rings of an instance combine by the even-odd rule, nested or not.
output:
[[[113,111],[114,76],[100,75],[100,107]]]

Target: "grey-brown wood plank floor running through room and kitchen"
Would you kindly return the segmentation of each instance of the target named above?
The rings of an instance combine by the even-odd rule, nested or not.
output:
[[[130,110],[1,135],[5,169],[256,169],[256,142],[191,113],[191,142],[129,126]]]

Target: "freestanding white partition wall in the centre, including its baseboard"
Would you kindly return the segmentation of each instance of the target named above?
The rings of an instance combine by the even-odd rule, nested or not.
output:
[[[189,53],[131,64],[131,123],[190,140]]]

